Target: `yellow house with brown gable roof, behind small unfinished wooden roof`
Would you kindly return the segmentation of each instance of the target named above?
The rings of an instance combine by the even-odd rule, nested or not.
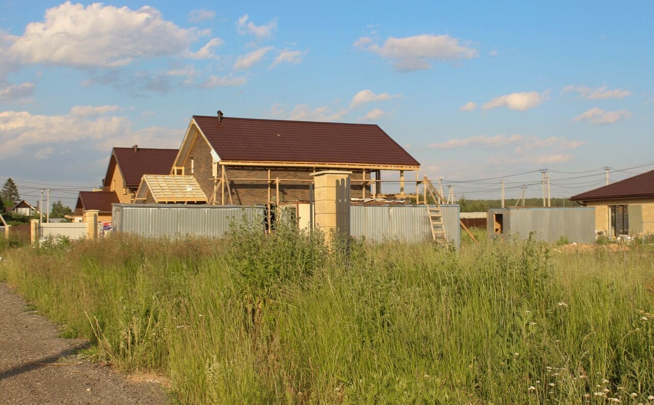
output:
[[[170,174],[177,149],[113,148],[103,180],[103,191],[115,191],[118,201],[134,201],[143,174]]]

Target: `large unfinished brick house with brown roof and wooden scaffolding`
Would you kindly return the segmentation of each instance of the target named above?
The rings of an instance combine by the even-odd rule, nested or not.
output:
[[[400,172],[404,182],[405,171],[419,169],[375,124],[233,118],[218,111],[192,117],[171,174],[193,176],[209,204],[251,205],[309,199],[310,174],[320,170],[352,172],[352,196],[371,197],[382,193],[382,170]],[[160,195],[170,196],[162,202],[186,198],[183,189],[167,190],[163,179],[159,184]]]

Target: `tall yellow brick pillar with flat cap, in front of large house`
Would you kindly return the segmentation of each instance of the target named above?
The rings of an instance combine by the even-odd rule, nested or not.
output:
[[[352,172],[345,170],[323,170],[311,173],[315,201],[316,229],[325,234],[329,242],[336,231],[336,180],[348,178]]]

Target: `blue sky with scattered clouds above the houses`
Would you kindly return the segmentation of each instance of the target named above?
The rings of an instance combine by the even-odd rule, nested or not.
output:
[[[73,205],[194,114],[376,123],[457,197],[654,169],[654,3],[0,3],[0,182]],[[447,191],[447,189],[446,189]]]

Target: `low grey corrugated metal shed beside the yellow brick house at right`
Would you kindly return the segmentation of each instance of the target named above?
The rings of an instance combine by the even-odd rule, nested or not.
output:
[[[493,235],[494,214],[504,214],[504,233],[526,239],[534,233],[536,240],[555,243],[560,238],[569,242],[595,242],[594,208],[500,208],[489,210],[487,231]]]

